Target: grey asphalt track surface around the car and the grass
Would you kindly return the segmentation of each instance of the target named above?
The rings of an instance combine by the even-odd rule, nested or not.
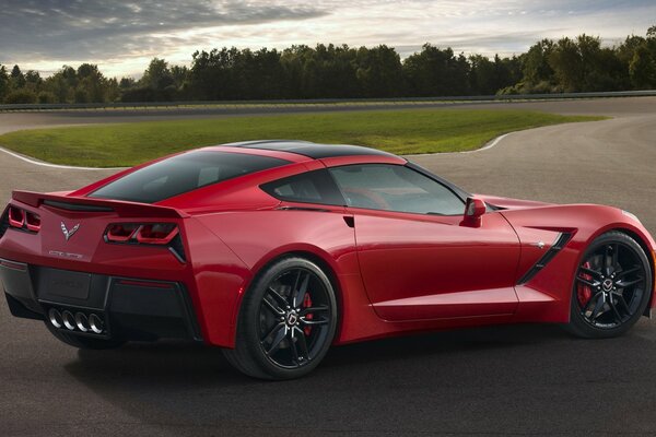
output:
[[[410,158],[472,192],[621,206],[656,233],[656,98],[484,107],[613,119]],[[225,116],[102,114],[1,114],[0,132]],[[39,167],[0,152],[0,201],[11,189],[69,189],[108,173]],[[77,351],[3,304],[0,333],[1,436],[656,435],[656,322],[646,319],[605,341],[518,326],[333,347],[308,377],[274,383],[187,343]]]

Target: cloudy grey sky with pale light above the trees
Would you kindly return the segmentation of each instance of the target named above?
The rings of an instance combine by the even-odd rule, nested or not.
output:
[[[196,50],[318,43],[512,56],[542,38],[607,45],[656,25],[655,0],[0,0],[0,63],[47,76],[97,63],[141,75],[153,57],[189,64]]]

